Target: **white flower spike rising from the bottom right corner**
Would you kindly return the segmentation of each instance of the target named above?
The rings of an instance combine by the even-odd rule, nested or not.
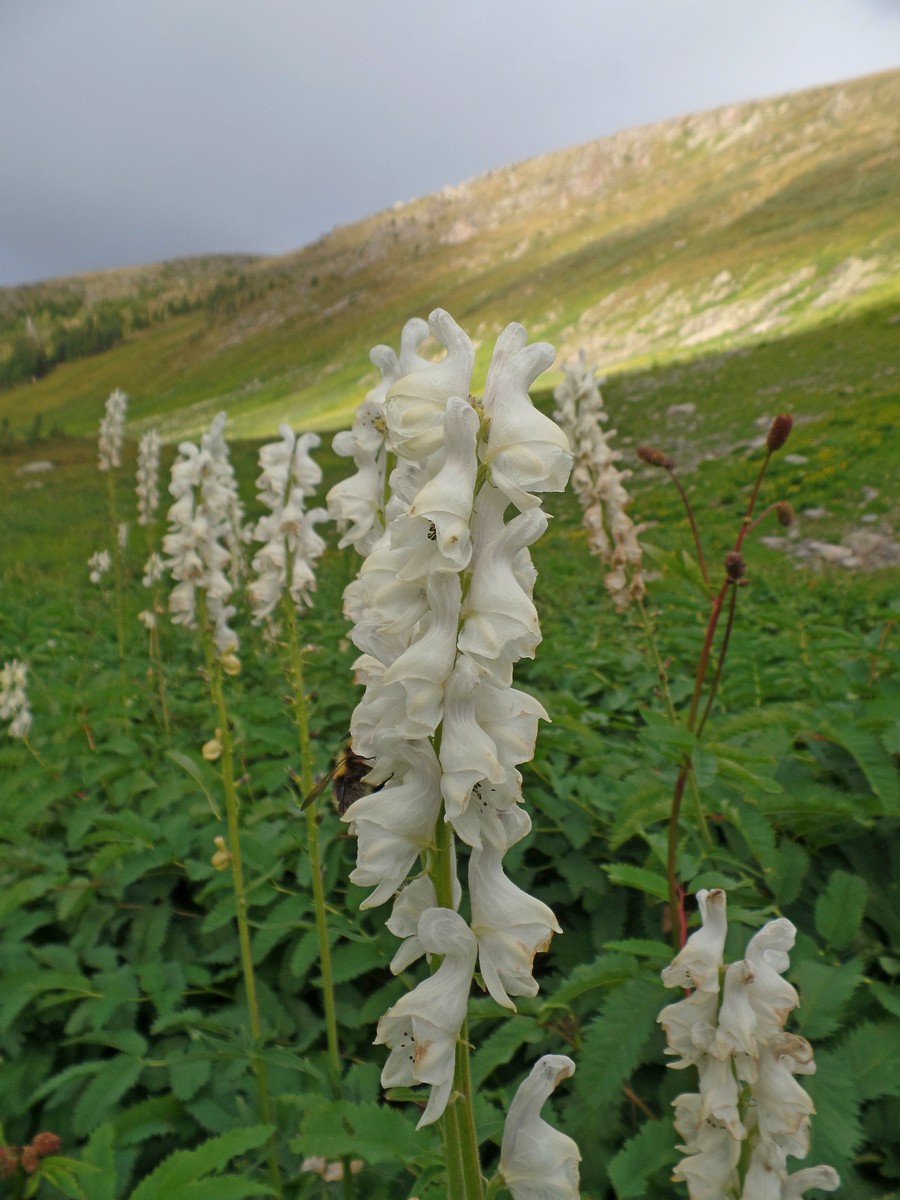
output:
[[[726,898],[698,892],[702,925],[662,972],[667,988],[690,994],[662,1009],[672,1067],[697,1068],[697,1092],[676,1098],[676,1129],[685,1158],[673,1178],[688,1184],[691,1200],[791,1200],[808,1188],[833,1192],[830,1166],[787,1174],[787,1157],[809,1152],[809,1094],[794,1076],[815,1072],[805,1038],[785,1032],[799,1004],[782,978],[796,929],[779,918],[764,925],[746,955],[727,967]]]

